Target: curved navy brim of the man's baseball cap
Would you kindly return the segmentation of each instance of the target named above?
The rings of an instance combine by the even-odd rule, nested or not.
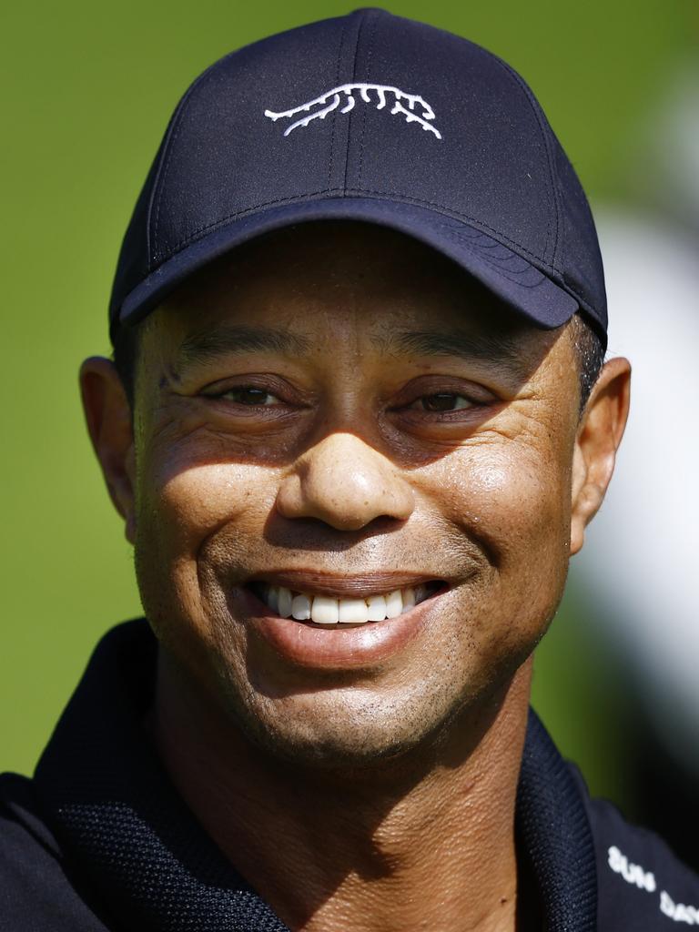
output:
[[[432,246],[538,326],[558,327],[580,307],[576,298],[539,268],[461,220],[402,201],[344,197],[283,204],[217,226],[134,288],[120,308],[118,321],[141,320],[193,272],[248,240],[283,226],[340,219],[388,226]]]

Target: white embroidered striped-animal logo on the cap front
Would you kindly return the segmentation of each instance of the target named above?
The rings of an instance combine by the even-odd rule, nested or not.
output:
[[[325,119],[328,114],[337,109],[340,102],[344,103],[340,113],[349,114],[349,111],[354,109],[354,104],[357,103],[354,96],[357,92],[359,92],[363,103],[374,103],[377,110],[384,109],[387,104],[387,95],[392,97],[394,103],[391,107],[391,115],[401,114],[405,117],[406,123],[419,123],[423,130],[433,132],[437,139],[442,138],[442,133],[429,122],[429,120],[434,119],[434,111],[427,101],[418,94],[407,94],[404,90],[391,88],[384,84],[343,84],[339,88],[326,91],[320,97],[316,97],[312,101],[308,101],[308,103],[302,103],[300,106],[294,107],[292,110],[283,110],[281,113],[266,110],[265,116],[276,122],[278,119],[291,119],[298,116],[298,114],[308,114],[307,117],[297,119],[295,123],[292,123],[291,126],[284,130],[284,135],[288,136],[297,127],[308,126],[311,120]],[[416,107],[422,111],[421,114],[415,112]]]

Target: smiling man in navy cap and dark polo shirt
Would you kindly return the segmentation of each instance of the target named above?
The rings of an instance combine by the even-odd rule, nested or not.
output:
[[[521,79],[380,10],[213,65],[111,332],[81,384],[148,624],[4,777],[4,927],[699,922],[528,713],[629,366]]]

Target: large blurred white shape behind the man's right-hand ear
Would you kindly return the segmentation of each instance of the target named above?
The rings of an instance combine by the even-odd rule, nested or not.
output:
[[[658,738],[699,774],[699,250],[689,231],[640,214],[597,210],[596,221],[609,354],[631,360],[632,406],[571,574]]]

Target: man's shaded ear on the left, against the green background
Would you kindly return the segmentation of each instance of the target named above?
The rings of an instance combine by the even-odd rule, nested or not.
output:
[[[136,531],[135,458],[131,408],[114,363],[102,356],[86,359],[80,367],[89,437],[100,460],[104,481],[117,512],[126,521],[126,536],[133,543]]]

